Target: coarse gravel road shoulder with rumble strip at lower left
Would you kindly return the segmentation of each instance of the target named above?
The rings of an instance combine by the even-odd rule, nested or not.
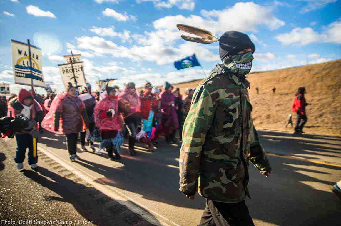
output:
[[[1,225],[152,225],[38,151],[39,168],[14,162],[15,139],[0,140]]]

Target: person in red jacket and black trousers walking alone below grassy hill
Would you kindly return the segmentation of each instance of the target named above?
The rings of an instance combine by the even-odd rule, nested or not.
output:
[[[303,126],[306,124],[308,117],[306,114],[306,106],[310,105],[310,103],[306,103],[306,98],[304,95],[306,94],[305,87],[299,87],[298,91],[295,95],[292,111],[297,113],[296,117],[296,126],[294,134],[301,134],[303,132]]]

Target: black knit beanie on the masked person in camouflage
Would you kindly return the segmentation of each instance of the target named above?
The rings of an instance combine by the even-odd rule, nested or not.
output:
[[[223,60],[227,56],[236,55],[238,52],[252,48],[252,53],[256,47],[247,34],[239,31],[226,31],[219,40],[219,55]]]

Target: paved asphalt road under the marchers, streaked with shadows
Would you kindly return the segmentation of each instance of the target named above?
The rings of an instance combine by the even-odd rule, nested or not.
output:
[[[330,186],[341,179],[341,138],[292,136],[260,131],[273,172],[262,176],[250,165],[251,200],[247,200],[256,225],[335,225],[340,222],[341,201]],[[179,144],[180,145],[180,144]],[[68,161],[64,136],[44,132],[40,149]],[[80,147],[80,146],[79,146]],[[169,225],[196,225],[205,200],[188,200],[179,192],[179,146],[166,145],[150,153],[141,145],[137,156],[121,148],[121,160],[110,161],[105,153],[79,153],[73,167],[108,185],[120,196],[148,210]]]

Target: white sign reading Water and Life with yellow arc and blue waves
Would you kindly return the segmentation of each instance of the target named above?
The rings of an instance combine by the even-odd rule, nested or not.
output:
[[[11,40],[11,51],[15,84],[45,88],[41,49],[30,45],[31,67],[28,44]]]

